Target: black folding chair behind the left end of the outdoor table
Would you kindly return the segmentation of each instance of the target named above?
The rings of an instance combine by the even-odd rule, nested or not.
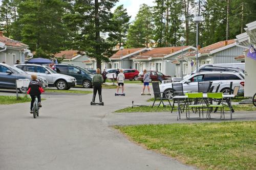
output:
[[[172,84],[172,87],[173,87],[173,96],[176,96],[176,95],[184,95],[184,92],[183,92],[183,84],[182,83],[173,83]],[[183,111],[185,109],[185,99],[179,99],[179,102],[180,104],[184,105],[183,107]],[[178,100],[176,99],[173,99],[173,106],[172,106],[172,111],[170,111],[171,113],[173,113],[173,110],[174,110],[174,104],[175,103],[178,103]],[[180,109],[180,112],[182,113],[182,110]]]

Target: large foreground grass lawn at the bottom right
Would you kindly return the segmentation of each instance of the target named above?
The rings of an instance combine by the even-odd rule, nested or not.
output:
[[[145,148],[201,169],[255,169],[256,122],[115,127]]]

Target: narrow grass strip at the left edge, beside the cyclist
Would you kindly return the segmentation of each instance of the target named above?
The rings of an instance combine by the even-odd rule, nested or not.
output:
[[[45,99],[41,99],[44,101]],[[25,102],[30,102],[31,98],[29,95],[27,96],[18,96],[18,100],[16,96],[12,95],[0,95],[0,105],[10,105],[10,104],[15,104],[15,103],[25,103]]]

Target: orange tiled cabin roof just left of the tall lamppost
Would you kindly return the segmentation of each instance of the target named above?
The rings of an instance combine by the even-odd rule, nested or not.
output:
[[[186,47],[188,46],[183,46],[183,48],[186,48]],[[182,49],[182,46],[153,48],[152,50],[142,53],[141,55],[137,55],[136,57],[161,58],[168,54],[180,51],[181,49]]]

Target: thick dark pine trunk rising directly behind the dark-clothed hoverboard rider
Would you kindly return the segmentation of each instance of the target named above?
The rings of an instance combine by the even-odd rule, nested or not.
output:
[[[94,1],[95,7],[95,53],[96,53],[96,61],[97,68],[101,68],[101,58],[100,58],[100,31],[99,31],[99,2],[98,0]]]

